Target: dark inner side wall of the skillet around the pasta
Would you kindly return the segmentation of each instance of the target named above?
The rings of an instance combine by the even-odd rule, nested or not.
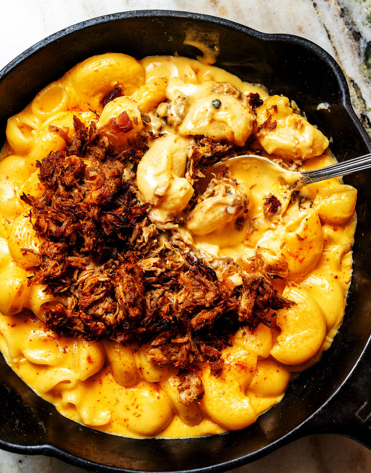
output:
[[[342,156],[353,157],[367,152],[359,130],[346,116],[336,75],[318,53],[305,51],[297,43],[262,40],[263,35],[247,36],[220,24],[177,17],[118,19],[110,24],[94,24],[92,20],[88,24],[91,24],[89,28],[72,29],[67,35],[56,38],[21,61],[7,76],[0,76],[3,100],[0,124],[3,130],[9,116],[22,110],[38,90],[82,59],[108,51],[125,52],[137,58],[175,53],[194,58],[199,51],[184,45],[183,40],[187,29],[196,28],[219,34],[221,51],[217,66],[243,80],[263,83],[271,92],[295,99],[311,122],[318,124],[327,136],[333,136],[332,150],[339,160]],[[320,102],[329,102],[331,112],[317,111]],[[147,471],[184,470],[185,465],[187,469],[207,467],[251,454],[297,427],[340,386],[371,332],[371,252],[364,243],[371,238],[367,229],[370,177],[371,174],[365,172],[346,180],[358,188],[359,223],[352,289],[340,333],[321,361],[302,373],[284,400],[259,417],[256,424],[243,432],[190,440],[142,442],[107,436],[57,414],[25,387],[2,359],[0,375],[4,385],[0,387],[0,395],[5,399],[6,408],[0,412],[0,422],[4,425],[1,441],[7,444],[5,448],[12,448],[14,444],[27,445],[31,452],[33,445],[51,443],[72,455],[98,463]],[[16,447],[13,449],[17,450]]]

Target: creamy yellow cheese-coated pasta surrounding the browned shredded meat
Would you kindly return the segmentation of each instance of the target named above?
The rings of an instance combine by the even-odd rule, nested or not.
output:
[[[212,56],[209,52],[208,58]],[[102,97],[117,86],[126,96],[102,110]],[[244,223],[235,225],[233,218],[222,215],[213,231],[197,231],[192,225],[179,231],[208,255],[248,262],[259,247],[273,262],[285,260],[288,275],[276,281],[276,288],[297,304],[278,311],[272,329],[262,324],[251,331],[240,329],[223,352],[219,377],[210,375],[206,364],[197,366],[205,387],[201,403],[180,404],[177,370],[149,363],[145,347],[134,353],[130,346],[68,339],[47,330],[42,304],[52,298],[42,286],[27,285],[37,264],[30,251],[37,253],[39,241],[20,195],[40,196],[36,160],[65,146],[60,135],[50,133],[50,124],[71,137],[74,114],[88,123],[97,121],[88,109],[96,110],[98,126],[104,126],[126,111],[135,119],[130,133],[138,134],[141,114],[149,114],[152,130],[164,136],[144,155],[137,183],[142,200],[151,205],[149,218],[161,228],[187,207],[193,194],[185,175],[193,136],[206,134],[243,146],[256,133],[246,99],[250,92],[266,99],[257,111],[257,125],[271,115],[276,121],[257,131],[263,154],[276,161],[306,158],[299,170],[334,162],[328,151],[323,153],[327,138],[294,114],[288,99],[269,98],[257,84],[178,57],[150,57],[140,63],[121,54],[89,58],[9,119],[0,162],[0,349],[21,379],[66,417],[127,437],[179,438],[241,429],[282,399],[291,371],[310,366],[329,348],[344,315],[351,278],[356,191],[334,178],[304,187],[294,200],[278,185],[274,168],[248,159],[223,164],[248,196]],[[213,108],[213,101],[220,107]],[[118,146],[129,138],[119,136]],[[263,202],[270,194],[281,207],[267,216]],[[211,210],[225,211],[219,207]],[[204,223],[201,218],[197,222]],[[29,317],[29,311],[38,318]]]

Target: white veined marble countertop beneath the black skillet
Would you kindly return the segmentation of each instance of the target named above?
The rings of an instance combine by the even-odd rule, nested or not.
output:
[[[0,69],[35,42],[67,26],[100,15],[145,9],[205,13],[263,32],[297,34],[316,42],[342,67],[355,112],[371,133],[371,0],[198,0],[197,4],[190,0],[12,0],[1,7]],[[371,451],[344,437],[316,435],[234,471],[368,473]],[[0,472],[86,470],[55,458],[0,450]]]

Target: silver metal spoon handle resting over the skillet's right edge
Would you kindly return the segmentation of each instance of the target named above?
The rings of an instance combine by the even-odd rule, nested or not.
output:
[[[312,171],[302,172],[302,179],[300,179],[300,185],[302,187],[313,182],[319,182],[331,177],[346,176],[352,172],[363,171],[371,167],[371,153],[359,158],[349,159],[341,163],[333,164],[322,169],[313,169]],[[297,187],[297,188],[298,188]]]

